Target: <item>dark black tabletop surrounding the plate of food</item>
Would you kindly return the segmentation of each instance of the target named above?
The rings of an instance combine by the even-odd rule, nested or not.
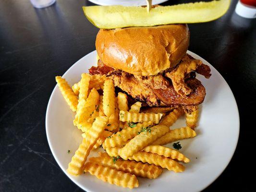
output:
[[[191,0],[170,0],[164,5],[180,2]],[[206,191],[249,191],[256,181],[254,158],[250,158],[256,139],[256,19],[236,15],[235,4],[236,0],[232,1],[227,14],[216,21],[189,24],[189,50],[221,73],[240,112],[240,137],[234,156]],[[82,191],[51,154],[45,114],[56,84],[54,77],[95,50],[98,28],[85,19],[83,5],[93,4],[57,0],[40,10],[29,0],[1,0],[0,192]]]

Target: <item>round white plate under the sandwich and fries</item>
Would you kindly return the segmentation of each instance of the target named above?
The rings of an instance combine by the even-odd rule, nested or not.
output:
[[[239,136],[239,113],[232,91],[219,72],[206,60],[191,51],[188,53],[209,65],[212,72],[210,79],[197,75],[207,90],[205,102],[200,105],[197,136],[181,140],[180,151],[189,157],[191,162],[185,164],[186,169],[183,173],[165,170],[156,180],[139,178],[139,187],[133,189],[133,192],[201,191],[222,173],[235,151]],[[95,64],[96,51],[93,51],[78,60],[63,77],[69,84],[77,83],[81,73],[88,72]],[[56,86],[50,96],[46,112],[46,133],[52,154],[66,174],[68,163],[82,141],[80,130],[73,126],[74,115]],[[184,125],[185,120],[181,118],[171,128]],[[70,150],[69,154],[67,150]],[[97,156],[97,152],[92,151],[90,156]],[[98,180],[89,173],[79,177],[69,174],[67,176],[87,192],[131,192],[129,189]]]

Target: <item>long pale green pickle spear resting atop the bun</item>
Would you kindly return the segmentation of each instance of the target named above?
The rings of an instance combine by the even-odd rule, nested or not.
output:
[[[158,6],[147,12],[146,7],[88,6],[83,7],[85,16],[96,27],[114,29],[132,26],[161,24],[202,23],[218,19],[230,6],[230,0],[185,3]]]

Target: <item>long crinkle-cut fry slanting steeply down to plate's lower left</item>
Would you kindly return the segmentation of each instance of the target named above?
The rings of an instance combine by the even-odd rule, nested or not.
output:
[[[69,174],[79,175],[82,173],[87,156],[96,144],[100,134],[104,131],[108,121],[107,117],[96,118],[68,165],[67,172]]]

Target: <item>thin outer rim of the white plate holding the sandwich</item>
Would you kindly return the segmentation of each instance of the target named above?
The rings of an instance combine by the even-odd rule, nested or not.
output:
[[[91,52],[89,52],[88,54],[86,54],[85,56],[83,56],[81,59],[77,60],[66,72],[64,72],[64,74],[62,76],[65,76],[66,73],[68,73],[70,70],[72,70],[76,63],[80,62],[80,60],[83,60],[85,57],[89,56],[89,55],[93,55],[95,54],[96,50],[93,50]],[[197,58],[199,58],[200,60],[202,60],[203,62],[206,61],[207,63],[209,63],[207,60],[203,59],[202,57],[200,57],[199,55],[195,54],[194,52],[190,51],[190,50],[187,50],[187,53],[190,54],[190,55],[194,55],[196,56]],[[210,64],[210,63],[209,63]],[[211,65],[211,67],[213,69],[214,66]],[[225,84],[228,86],[229,90],[231,91],[232,93],[232,99],[234,100],[234,103],[235,103],[235,109],[236,109],[236,112],[237,112],[237,115],[238,115],[238,129],[237,129],[237,137],[235,138],[236,139],[236,142],[235,142],[235,147],[232,149],[232,155],[229,157],[227,163],[223,166],[223,169],[219,172],[219,174],[212,180],[210,181],[206,186],[203,186],[201,187],[200,191],[206,189],[208,186],[210,186],[215,180],[217,180],[219,178],[219,176],[223,173],[223,171],[227,168],[227,166],[230,164],[230,161],[232,159],[232,157],[234,156],[234,153],[235,153],[235,150],[237,148],[237,144],[238,144],[238,140],[239,140],[239,136],[240,136],[240,115],[239,115],[239,110],[238,110],[238,106],[237,106],[237,102],[236,102],[236,99],[234,97],[234,94],[232,92],[232,89],[230,88],[229,84],[226,82],[226,80],[224,79],[224,77],[219,73],[219,71],[217,69],[215,69],[216,72],[219,74],[220,78],[222,78],[222,81],[225,82]],[[48,141],[48,144],[49,144],[49,148],[51,150],[51,153],[55,159],[55,161],[57,162],[58,166],[61,168],[61,170],[65,173],[65,175],[70,179],[72,180],[77,186],[79,186],[82,190],[86,191],[86,192],[93,192],[91,190],[89,190],[88,188],[86,188],[84,185],[81,185],[79,182],[77,182],[71,175],[69,175],[65,168],[62,168],[61,167],[61,163],[59,161],[59,159],[56,157],[56,153],[54,152],[54,150],[52,149],[52,144],[51,144],[51,141],[49,140],[49,128],[48,128],[48,123],[49,123],[49,120],[48,120],[48,114],[49,114],[49,105],[51,103],[51,100],[53,99],[53,93],[55,92],[55,89],[58,88],[58,85],[56,84],[51,92],[51,95],[49,97],[49,101],[48,101],[48,104],[47,104],[47,109],[46,109],[46,119],[45,119],[45,126],[46,126],[46,135],[47,135],[47,141]]]

